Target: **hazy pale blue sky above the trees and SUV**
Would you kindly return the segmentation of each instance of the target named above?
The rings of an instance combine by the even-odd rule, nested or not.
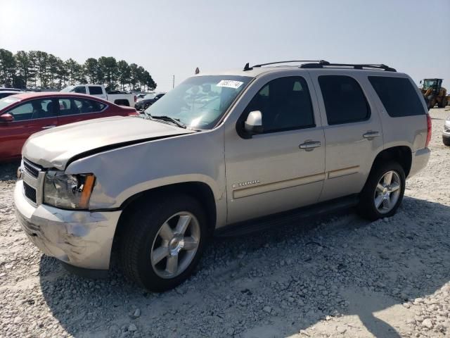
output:
[[[2,0],[0,48],[123,58],[159,90],[195,67],[293,58],[385,63],[450,89],[450,0]]]

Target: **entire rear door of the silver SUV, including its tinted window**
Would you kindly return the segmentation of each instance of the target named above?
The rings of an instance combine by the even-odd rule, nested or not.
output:
[[[364,90],[367,88],[367,78],[354,73],[340,72],[340,77],[350,77],[352,80],[344,79],[342,87],[333,84],[326,89],[318,77],[335,76],[336,73],[311,71],[326,139],[326,180],[320,201],[361,192],[375,156],[383,150],[383,130],[378,109],[372,104],[370,93]],[[351,88],[353,84],[354,87]],[[333,92],[333,96],[327,98],[327,91]],[[324,98],[328,100],[328,104]],[[366,100],[366,107],[361,106],[361,102],[358,103],[361,98]],[[334,102],[330,103],[330,99]],[[358,111],[364,109],[368,111],[368,118],[358,118]],[[361,112],[361,116],[364,116],[364,112]]]

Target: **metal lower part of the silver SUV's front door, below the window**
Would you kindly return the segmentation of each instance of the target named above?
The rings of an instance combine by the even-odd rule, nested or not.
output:
[[[320,127],[226,142],[229,223],[314,204],[319,199],[325,147],[300,149],[309,139],[325,142]]]

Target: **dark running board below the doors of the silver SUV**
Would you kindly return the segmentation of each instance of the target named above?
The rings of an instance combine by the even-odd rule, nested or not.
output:
[[[265,230],[269,227],[278,227],[294,223],[298,220],[304,220],[307,218],[316,218],[326,213],[335,213],[336,211],[342,211],[348,208],[356,206],[359,202],[358,195],[345,196],[339,199],[333,199],[325,201],[314,206],[305,206],[283,213],[276,213],[274,215],[268,215],[260,218],[254,218],[252,220],[245,220],[244,222],[234,223],[221,227],[214,232],[214,236],[217,237],[232,237],[240,236],[243,234],[250,234],[251,232],[257,232]]]

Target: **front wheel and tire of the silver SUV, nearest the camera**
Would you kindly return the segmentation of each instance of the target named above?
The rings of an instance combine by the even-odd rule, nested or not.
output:
[[[166,196],[150,207],[141,203],[124,221],[127,230],[120,240],[120,265],[129,279],[150,291],[163,292],[191,275],[207,242],[205,213],[196,199],[179,195]],[[183,237],[177,229],[185,223]],[[185,249],[193,248],[195,242],[195,249]]]

